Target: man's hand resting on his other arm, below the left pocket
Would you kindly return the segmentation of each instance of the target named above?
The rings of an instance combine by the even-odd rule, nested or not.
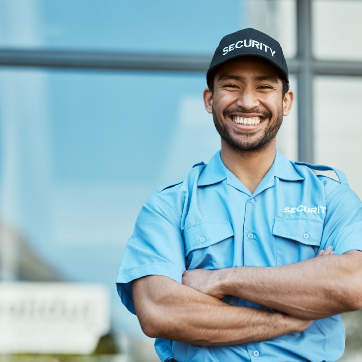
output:
[[[182,284],[204,294],[222,299],[225,296],[220,285],[220,270],[194,269],[186,270],[182,275]]]

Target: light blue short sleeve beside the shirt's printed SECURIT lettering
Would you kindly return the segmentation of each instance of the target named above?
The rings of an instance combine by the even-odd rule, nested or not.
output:
[[[321,248],[332,245],[336,254],[362,251],[362,203],[348,184],[338,185],[326,195],[326,207]]]

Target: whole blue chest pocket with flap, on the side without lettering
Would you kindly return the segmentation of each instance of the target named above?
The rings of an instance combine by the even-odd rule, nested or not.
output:
[[[234,231],[230,222],[208,222],[185,229],[186,269],[220,269],[232,265]]]

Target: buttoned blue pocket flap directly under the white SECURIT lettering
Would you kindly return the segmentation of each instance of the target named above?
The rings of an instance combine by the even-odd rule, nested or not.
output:
[[[323,221],[312,219],[275,219],[273,235],[299,241],[306,245],[320,245]]]

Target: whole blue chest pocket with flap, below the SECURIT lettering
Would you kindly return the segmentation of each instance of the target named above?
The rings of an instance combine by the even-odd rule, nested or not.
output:
[[[273,235],[277,265],[291,264],[316,256],[323,233],[323,220],[275,219]]]

